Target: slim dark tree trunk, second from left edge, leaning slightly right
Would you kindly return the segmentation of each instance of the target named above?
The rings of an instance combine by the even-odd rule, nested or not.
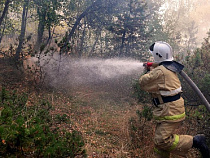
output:
[[[16,54],[15,54],[16,61],[18,61],[20,58],[20,52],[22,50],[22,46],[23,46],[23,42],[24,42],[24,38],[25,38],[26,21],[27,21],[27,14],[28,14],[28,4],[29,4],[29,0],[25,0],[24,5],[23,5],[22,24],[21,24],[21,33],[19,36],[19,45],[18,45]]]

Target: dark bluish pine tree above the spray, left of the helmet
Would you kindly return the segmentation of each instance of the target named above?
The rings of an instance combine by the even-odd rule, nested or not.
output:
[[[128,0],[118,4],[116,20],[110,23],[107,29],[113,33],[113,43],[118,56],[139,57],[145,56],[148,41],[152,31],[148,29],[148,7],[145,1]],[[119,46],[119,43],[121,44]]]

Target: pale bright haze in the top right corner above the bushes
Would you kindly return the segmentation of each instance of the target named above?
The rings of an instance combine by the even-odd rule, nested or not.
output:
[[[194,37],[196,46],[200,47],[203,39],[208,36],[207,32],[210,29],[209,0],[166,0],[161,4],[159,13],[161,17],[164,17],[166,23],[168,21],[167,25],[172,21],[176,22],[175,30],[184,35],[182,42],[186,40],[185,38]],[[184,46],[186,47],[185,44]]]

